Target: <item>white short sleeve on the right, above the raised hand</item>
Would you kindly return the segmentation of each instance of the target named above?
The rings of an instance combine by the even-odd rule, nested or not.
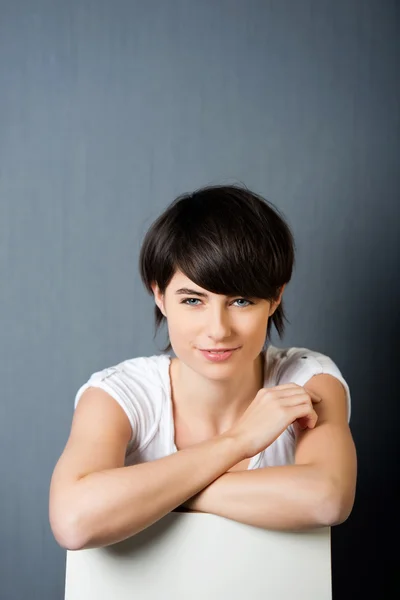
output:
[[[308,348],[290,348],[279,366],[278,384],[297,383],[303,386],[314,375],[325,373],[336,377],[343,385],[347,400],[347,421],[350,422],[350,388],[337,364],[325,354]]]

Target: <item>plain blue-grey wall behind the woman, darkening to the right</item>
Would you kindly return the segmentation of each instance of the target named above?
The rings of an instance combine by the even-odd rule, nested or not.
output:
[[[274,343],[326,352],[352,390],[358,495],[333,531],[335,598],[389,597],[398,25],[394,0],[0,1],[1,600],[63,598],[48,486],[74,395],[158,353],[142,236],[175,195],[223,182],[295,232]]]

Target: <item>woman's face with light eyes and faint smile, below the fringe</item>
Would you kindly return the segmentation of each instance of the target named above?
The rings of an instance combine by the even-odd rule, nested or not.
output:
[[[199,287],[182,272],[171,279],[164,296],[153,287],[158,308],[167,319],[169,338],[176,356],[207,377],[232,377],[259,356],[265,342],[268,319],[279,306],[257,298],[227,297]],[[201,352],[234,349],[229,358],[216,362]]]

